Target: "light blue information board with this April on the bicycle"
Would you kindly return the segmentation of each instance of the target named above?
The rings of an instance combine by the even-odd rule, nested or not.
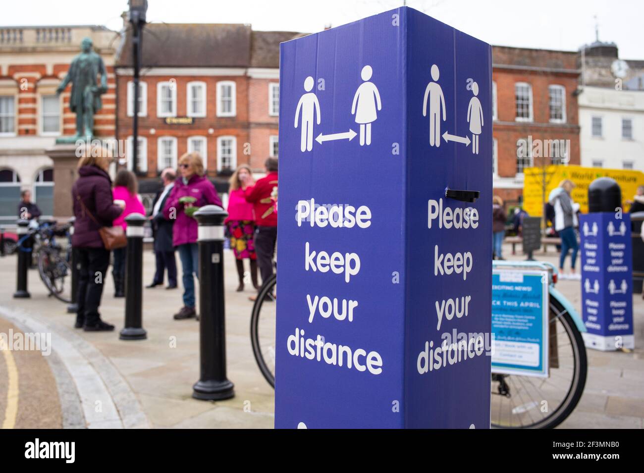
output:
[[[495,269],[492,274],[492,372],[548,376],[547,271]]]

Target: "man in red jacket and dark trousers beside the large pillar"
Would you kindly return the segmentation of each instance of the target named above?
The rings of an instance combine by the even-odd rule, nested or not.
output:
[[[273,256],[278,238],[278,214],[271,197],[278,187],[278,160],[268,158],[265,162],[267,175],[258,180],[254,187],[246,189],[246,201],[251,202],[255,212],[255,252],[260,266],[261,283],[273,274]],[[251,296],[251,301],[256,297]]]

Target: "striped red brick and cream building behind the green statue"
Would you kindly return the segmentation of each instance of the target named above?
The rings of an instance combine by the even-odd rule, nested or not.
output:
[[[53,162],[45,151],[76,131],[71,85],[57,97],[81,40],[90,37],[108,71],[108,91],[95,116],[95,133],[115,129],[114,46],[104,26],[0,27],[0,223],[15,223],[21,190],[31,190],[44,216],[53,214]]]

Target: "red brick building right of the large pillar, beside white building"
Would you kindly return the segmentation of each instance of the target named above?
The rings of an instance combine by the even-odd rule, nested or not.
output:
[[[493,46],[492,58],[494,194],[515,205],[526,167],[580,163],[580,71],[576,52]]]

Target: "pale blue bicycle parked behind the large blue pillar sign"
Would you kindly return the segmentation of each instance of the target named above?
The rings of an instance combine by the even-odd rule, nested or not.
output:
[[[554,288],[556,268],[552,264],[540,261],[495,261],[493,266],[548,270],[549,338],[556,342],[556,349],[550,351],[548,378],[492,373],[491,427],[551,429],[564,422],[582,397],[588,369],[581,334],[585,327],[571,303]],[[277,277],[272,275],[261,286],[251,315],[252,351],[261,374],[272,387],[275,387],[276,284]],[[555,382],[555,379],[558,381]],[[545,412],[542,411],[544,401],[547,405]],[[533,414],[538,417],[535,418]]]

